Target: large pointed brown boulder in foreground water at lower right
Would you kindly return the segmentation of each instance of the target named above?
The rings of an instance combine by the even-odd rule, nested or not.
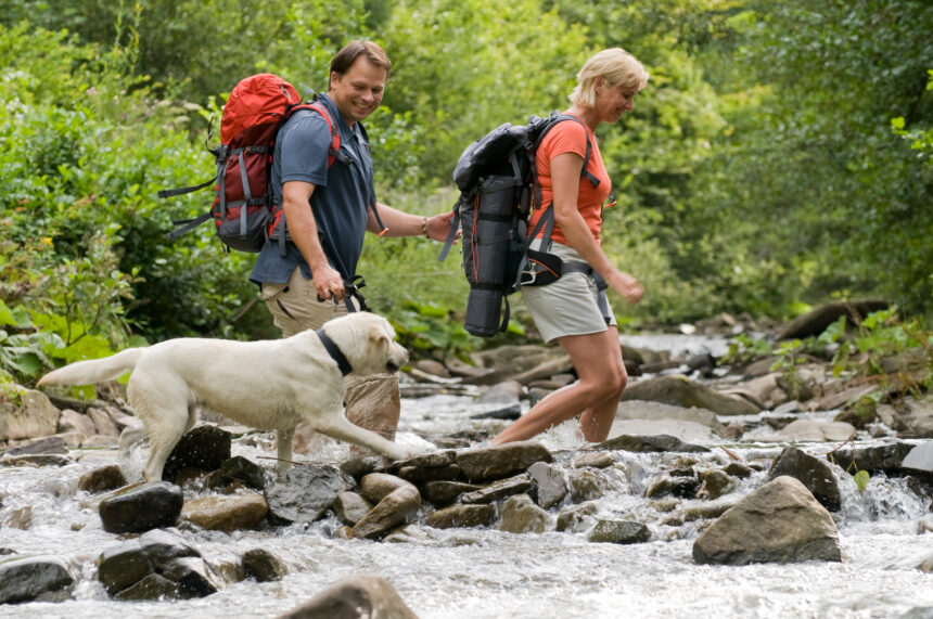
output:
[[[727,511],[693,543],[699,564],[842,560],[829,512],[793,477],[778,477]]]

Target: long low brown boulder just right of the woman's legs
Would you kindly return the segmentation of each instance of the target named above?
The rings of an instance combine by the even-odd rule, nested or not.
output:
[[[685,376],[656,376],[629,385],[622,397],[647,400],[675,407],[707,409],[717,415],[749,415],[759,412],[758,407],[742,398],[725,396]]]

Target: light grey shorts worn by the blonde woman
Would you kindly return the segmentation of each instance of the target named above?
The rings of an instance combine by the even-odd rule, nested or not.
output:
[[[532,247],[536,248],[536,245],[537,241]],[[568,245],[553,243],[550,253],[563,260],[584,261]],[[592,279],[584,273],[567,273],[547,286],[523,286],[522,297],[545,341],[606,330],[606,320],[598,305],[599,291]],[[609,326],[616,326],[612,308],[609,308]]]

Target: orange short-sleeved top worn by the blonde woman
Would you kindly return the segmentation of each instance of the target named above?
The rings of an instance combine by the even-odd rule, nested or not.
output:
[[[564,153],[576,153],[580,158],[586,156],[586,141],[589,141],[592,150],[589,155],[587,170],[599,179],[599,185],[592,186],[589,178],[580,177],[579,191],[577,192],[577,209],[586,221],[587,227],[592,233],[596,242],[600,242],[600,229],[602,228],[602,205],[612,192],[612,181],[609,179],[609,173],[605,171],[605,165],[602,163],[602,154],[599,152],[599,144],[596,141],[596,136],[588,127],[573,120],[564,120],[555,125],[548,134],[536,153],[535,163],[538,167],[538,183],[541,188],[541,205],[551,208],[553,202],[553,186],[551,183],[551,159]],[[538,208],[531,217],[528,223],[528,232],[531,233],[541,218],[544,211]],[[540,236],[542,233],[538,233]],[[563,245],[570,245],[566,236],[560,225],[554,224],[554,231],[551,234],[551,240]]]

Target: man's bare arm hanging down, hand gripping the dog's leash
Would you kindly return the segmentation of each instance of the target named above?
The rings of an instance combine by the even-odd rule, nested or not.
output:
[[[343,300],[346,291],[341,274],[328,262],[321,241],[318,237],[318,223],[308,201],[315,192],[315,185],[302,181],[289,181],[282,184],[282,211],[289,223],[289,234],[292,236],[305,261],[311,268],[315,289],[322,299]]]

